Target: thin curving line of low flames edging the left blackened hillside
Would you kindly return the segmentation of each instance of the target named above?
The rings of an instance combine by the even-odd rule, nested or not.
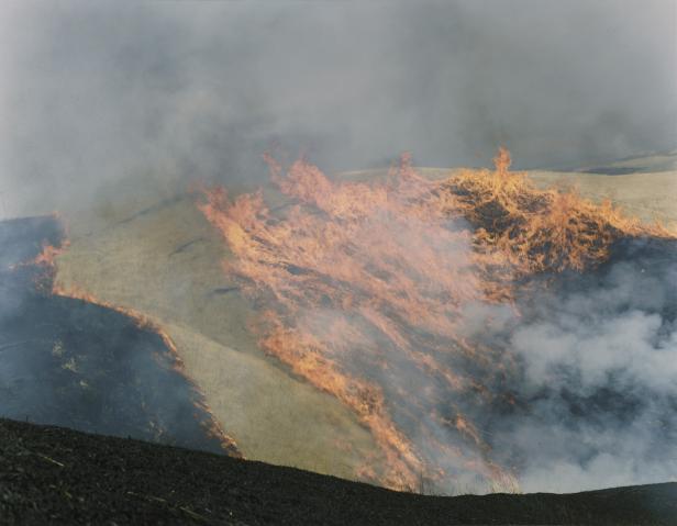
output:
[[[41,266],[45,269],[45,272],[43,275],[43,278],[38,282],[38,286],[44,288],[47,283],[49,283],[51,293],[54,295],[81,300],[87,303],[92,303],[95,305],[113,310],[131,318],[138,328],[157,334],[163,340],[163,344],[165,345],[166,349],[169,351],[169,355],[171,356],[171,369],[181,374],[186,379],[186,381],[188,381],[193,392],[197,394],[197,400],[193,402],[196,409],[200,410],[203,414],[208,416],[207,419],[201,423],[208,436],[218,439],[221,444],[221,448],[229,455],[234,457],[241,457],[235,440],[225,433],[209,405],[207,405],[207,403],[204,402],[204,393],[200,390],[195,380],[192,380],[188,376],[184,361],[181,360],[181,357],[176,348],[174,340],[159,323],[133,309],[115,305],[110,302],[100,300],[78,287],[70,286],[66,288],[56,280],[57,257],[62,255],[69,247],[69,245],[70,243],[67,239],[62,242],[60,246],[58,247],[55,247],[49,244],[43,245],[42,253],[38,254],[32,261],[33,265]]]

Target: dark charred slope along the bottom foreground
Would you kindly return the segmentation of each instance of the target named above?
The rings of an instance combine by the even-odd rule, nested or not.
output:
[[[0,523],[667,525],[677,524],[677,483],[568,495],[421,496],[0,419]]]

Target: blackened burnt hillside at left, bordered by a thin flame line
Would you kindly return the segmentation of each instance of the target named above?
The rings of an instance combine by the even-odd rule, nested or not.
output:
[[[51,293],[49,267],[31,261],[62,239],[54,217],[0,222],[0,416],[224,452],[158,334]]]

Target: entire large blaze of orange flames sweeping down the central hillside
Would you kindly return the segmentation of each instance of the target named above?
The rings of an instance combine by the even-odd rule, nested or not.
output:
[[[288,205],[214,188],[200,210],[234,256],[225,271],[266,305],[262,348],[354,411],[387,459],[360,474],[396,489],[422,477],[444,488],[468,471],[514,485],[465,412],[513,405],[513,363],[463,336],[466,305],[510,302],[525,277],[597,265],[621,237],[670,235],[608,202],[535,189],[509,171],[503,148],[495,170],[445,181],[420,177],[408,155],[373,183],[266,160]]]

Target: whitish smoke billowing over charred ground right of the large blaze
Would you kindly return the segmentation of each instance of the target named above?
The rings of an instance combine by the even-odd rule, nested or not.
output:
[[[626,242],[600,269],[524,299],[495,332],[521,361],[525,409],[492,423],[493,446],[518,460],[525,491],[675,479],[676,278],[674,242]]]

